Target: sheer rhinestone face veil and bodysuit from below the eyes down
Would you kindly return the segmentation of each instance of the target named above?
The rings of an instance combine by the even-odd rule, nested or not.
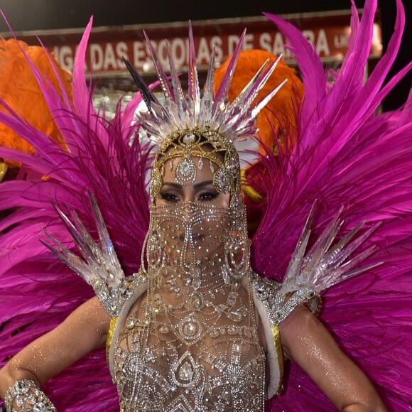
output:
[[[244,206],[152,207],[148,291],[113,343],[121,411],[262,411]]]

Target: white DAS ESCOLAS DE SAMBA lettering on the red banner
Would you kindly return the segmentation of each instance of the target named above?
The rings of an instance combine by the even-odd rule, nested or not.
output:
[[[330,56],[330,45],[332,50],[347,47],[347,36],[345,34],[337,34],[330,38],[331,44],[328,42],[327,31],[320,28],[318,32],[313,30],[302,31],[303,36],[310,43],[315,45],[320,56]],[[212,36],[211,38],[203,36],[196,40],[196,60],[197,64],[207,66],[210,62],[212,50],[215,47],[215,62],[222,63],[224,58],[234,52],[234,48],[239,41],[238,35],[228,36]],[[166,40],[156,42],[152,40],[153,49],[156,51],[159,62],[168,70],[168,52]],[[175,61],[176,67],[180,69],[188,64],[189,44],[188,39],[175,37],[171,38],[170,54]],[[267,31],[261,33],[247,33],[244,37],[242,45],[244,50],[252,48],[261,48],[275,55],[283,54],[286,59],[292,58],[291,51],[287,48],[286,38],[278,31]],[[121,59],[124,58],[131,61],[136,67],[136,70],[148,72],[153,70],[150,53],[145,41],[134,40],[133,42],[118,41],[106,43],[91,43],[89,45],[89,53],[87,53],[87,65],[92,65],[93,72],[108,72],[108,71],[124,71],[124,63]],[[53,49],[55,57],[60,65],[66,70],[71,71],[73,68],[73,60],[75,51],[72,45],[56,46]],[[334,51],[335,53],[335,51]],[[87,69],[86,69],[87,70]]]

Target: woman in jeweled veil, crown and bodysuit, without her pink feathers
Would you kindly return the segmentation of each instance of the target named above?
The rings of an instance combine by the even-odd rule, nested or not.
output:
[[[193,41],[191,31],[190,39]],[[154,53],[153,60],[156,62]],[[259,90],[275,66],[251,82],[249,91]],[[190,72],[195,72],[193,60]],[[178,85],[178,78],[173,82]],[[156,98],[147,88],[142,89],[148,114],[140,122],[159,144],[151,173],[151,223],[142,259],[146,265],[126,278],[110,247],[97,252],[91,238],[77,232],[79,223],[71,231],[85,262],[80,263],[50,236],[60,247],[60,252],[52,250],[92,284],[116,324],[109,365],[121,410],[263,410],[266,397],[278,391],[283,367],[278,332],[274,335],[273,331],[293,312],[292,320],[281,330],[286,356],[296,359],[341,411],[384,411],[367,377],[338,349],[308,309],[300,306],[308,293],[318,291],[316,285],[307,286],[307,290],[300,285],[303,289],[298,291],[289,284],[286,293],[251,272],[239,156],[232,143],[253,131],[249,126],[245,132],[244,127],[250,114],[246,112],[231,126],[232,116],[221,113],[220,104],[215,103],[217,109],[202,107],[207,104],[205,97],[200,99],[192,90],[189,104],[193,106],[179,107],[170,98],[168,106],[162,107],[165,116],[159,122],[159,109],[154,114],[151,107]],[[206,97],[208,93],[210,90],[205,90]],[[244,96],[249,97],[249,92]],[[199,112],[193,110],[197,103],[202,107]],[[230,113],[233,106],[228,109]],[[174,111],[178,120],[166,117]],[[216,118],[219,127],[214,124]],[[108,244],[93,204],[99,234]],[[70,228],[68,220],[66,224]],[[302,242],[308,239],[303,237]],[[318,249],[313,253],[319,254],[322,249]],[[288,273],[288,282],[296,286],[296,275],[305,266],[326,264],[331,272],[340,269],[340,264],[334,265],[323,256],[318,262],[313,256],[309,264],[294,260],[299,270]],[[311,271],[315,270],[308,269],[308,278]],[[267,293],[281,300],[275,321],[275,305],[265,306]],[[34,399],[33,410],[39,403],[53,409],[38,385],[91,349],[101,347],[108,330],[108,316],[92,299],[62,325],[23,349],[1,372],[6,408],[30,407]],[[67,341],[67,336],[78,338]],[[45,348],[48,354],[42,354]],[[267,382],[266,359],[271,361]],[[325,381],[330,374],[339,377]]]

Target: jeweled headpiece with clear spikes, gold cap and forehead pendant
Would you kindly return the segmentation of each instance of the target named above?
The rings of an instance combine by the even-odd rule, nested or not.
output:
[[[146,86],[131,63],[127,60],[124,61],[147,107],[147,112],[136,114],[137,120],[146,131],[148,139],[158,145],[152,170],[151,201],[154,202],[161,189],[163,171],[167,161],[170,161],[168,163],[170,170],[175,170],[175,178],[178,183],[181,185],[193,183],[196,178],[196,165],[193,157],[199,158],[199,161],[197,161],[198,168],[202,168],[202,158],[207,158],[210,161],[214,175],[213,183],[218,193],[229,193],[230,195],[239,193],[240,166],[234,143],[254,136],[256,133],[254,124],[257,114],[286,82],[286,80],[281,82],[276,89],[254,104],[256,95],[264,87],[279,59],[271,63],[265,70],[266,61],[249,84],[244,87],[244,90],[234,99],[234,102],[230,104],[227,92],[246,29],[237,43],[215,96],[213,96],[215,48],[212,50],[205,89],[201,95],[197,77],[195,44],[190,22],[187,94],[183,92],[175,63],[171,57],[168,41],[166,40],[166,48],[168,50],[170,77],[166,76],[146,32],[143,31],[143,33],[163,92],[165,100],[163,104]],[[175,158],[180,159],[176,166],[173,164]],[[213,165],[217,166],[217,170]],[[236,197],[231,196],[233,200]]]

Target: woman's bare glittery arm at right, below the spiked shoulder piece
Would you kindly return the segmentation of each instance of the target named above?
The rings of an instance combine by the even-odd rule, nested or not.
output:
[[[286,356],[315,381],[340,411],[386,411],[371,381],[305,305],[299,305],[281,322],[280,332]]]

